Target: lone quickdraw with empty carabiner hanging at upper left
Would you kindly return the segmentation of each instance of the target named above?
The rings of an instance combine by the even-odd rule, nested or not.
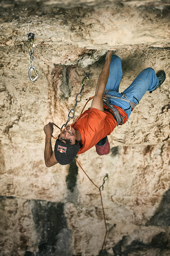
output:
[[[32,56],[33,52],[34,52],[34,48],[35,48],[35,44],[34,44],[34,34],[33,33],[29,33],[28,34],[28,40],[29,40],[29,55],[30,55],[30,67],[28,68],[28,76],[30,78],[31,81],[35,81],[39,74],[37,73],[36,68],[33,66],[33,60],[34,57]],[[32,50],[31,50],[31,42],[32,42]],[[31,77],[31,71],[34,70],[36,76],[34,78]]]

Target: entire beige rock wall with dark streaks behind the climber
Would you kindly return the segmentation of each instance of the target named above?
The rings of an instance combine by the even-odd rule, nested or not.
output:
[[[0,256],[169,256],[169,1],[0,6]],[[30,32],[35,82],[27,71]],[[148,67],[164,69],[166,80],[145,94],[129,124],[115,128],[109,155],[98,156],[93,147],[77,158],[98,187],[109,173],[101,192],[108,233],[100,253],[106,231],[100,192],[75,160],[45,166],[43,127],[67,121],[90,72],[79,115],[108,49],[122,60],[120,92]]]

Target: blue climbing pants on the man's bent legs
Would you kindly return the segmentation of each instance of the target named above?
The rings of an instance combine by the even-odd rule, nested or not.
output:
[[[108,94],[115,97],[122,97],[122,94],[119,92],[119,84],[122,78],[122,63],[121,59],[117,55],[113,55],[110,62],[110,73],[109,79],[106,84],[105,90],[112,90]],[[124,90],[124,94],[128,99],[136,104],[144,96],[145,92],[153,91],[159,79],[156,76],[156,73],[153,68],[146,68],[135,78],[131,85]],[[123,97],[123,99],[126,99]],[[112,105],[122,108],[128,115],[128,118],[131,114],[131,106],[128,102],[124,100],[109,98],[109,101]]]

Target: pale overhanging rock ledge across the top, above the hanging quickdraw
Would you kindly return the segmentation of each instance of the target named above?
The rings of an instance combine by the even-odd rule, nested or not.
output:
[[[44,5],[43,1],[16,1],[6,8],[1,4],[4,6],[2,45],[23,44],[27,33],[33,32],[40,55],[48,59],[54,48],[58,51],[63,45],[115,49],[136,44],[157,47],[169,44],[168,1],[149,1],[146,5],[145,1],[110,1],[103,8],[95,5],[97,1],[92,3],[91,8],[84,3],[83,7],[71,9]],[[52,59],[56,64],[60,61],[57,56]]]

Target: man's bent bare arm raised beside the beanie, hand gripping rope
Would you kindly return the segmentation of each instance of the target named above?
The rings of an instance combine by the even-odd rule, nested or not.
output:
[[[44,160],[47,167],[51,167],[54,164],[57,164],[57,160],[55,159],[54,152],[51,145],[51,137],[53,134],[53,125],[48,123],[44,126],[44,132],[46,134],[46,144],[44,150]]]

